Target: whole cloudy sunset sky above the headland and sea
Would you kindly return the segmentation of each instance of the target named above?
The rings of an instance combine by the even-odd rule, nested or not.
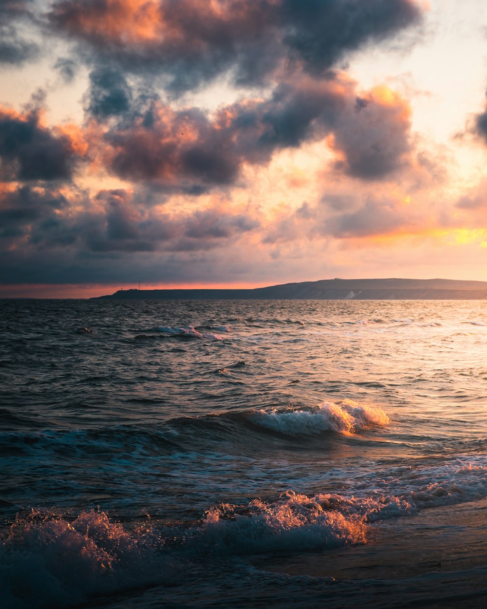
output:
[[[0,297],[487,281],[484,0],[0,0]]]

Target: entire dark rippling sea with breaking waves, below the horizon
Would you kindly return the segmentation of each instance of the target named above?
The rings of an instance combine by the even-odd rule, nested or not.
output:
[[[487,303],[0,301],[0,329],[0,607],[485,607]]]

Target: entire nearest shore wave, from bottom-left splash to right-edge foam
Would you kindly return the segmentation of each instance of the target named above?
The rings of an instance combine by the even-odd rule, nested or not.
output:
[[[166,525],[150,519],[120,524],[96,510],[75,517],[32,511],[18,516],[0,540],[2,600],[8,609],[69,607],[115,591],[173,585],[200,559],[363,544],[371,523],[487,496],[483,462],[479,456],[403,468],[383,487],[374,474],[368,484],[376,489],[362,496],[357,487],[349,495],[287,490]]]

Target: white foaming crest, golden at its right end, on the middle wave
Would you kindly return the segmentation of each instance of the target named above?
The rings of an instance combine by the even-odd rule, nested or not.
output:
[[[306,409],[258,410],[250,415],[250,420],[285,435],[312,435],[323,431],[350,435],[389,423],[384,410],[353,400],[325,401]]]

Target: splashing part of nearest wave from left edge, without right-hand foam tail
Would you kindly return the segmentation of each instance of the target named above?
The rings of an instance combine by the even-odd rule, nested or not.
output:
[[[0,544],[0,586],[9,609],[54,609],[101,594],[172,584],[200,558],[331,549],[365,543],[367,514],[387,504],[283,493],[275,501],[222,504],[198,523],[130,530],[104,512],[74,519],[18,516]]]

